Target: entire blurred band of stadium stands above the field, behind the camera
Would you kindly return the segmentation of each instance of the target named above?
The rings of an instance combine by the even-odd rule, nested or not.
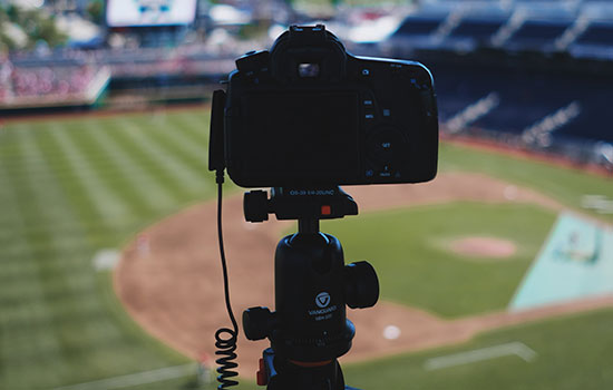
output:
[[[429,66],[449,135],[612,164],[609,1],[3,0],[0,22],[4,115],[202,100],[237,56],[324,22],[356,55]]]

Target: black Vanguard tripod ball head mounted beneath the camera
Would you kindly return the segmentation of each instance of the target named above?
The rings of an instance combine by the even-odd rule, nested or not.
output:
[[[356,328],[346,305],[370,308],[379,282],[368,262],[344,265],[342,246],[319,231],[320,220],[357,215],[358,205],[339,187],[272,188],[245,194],[245,218],[263,222],[298,220],[298,233],[279,242],[274,262],[275,311],[243,312],[249,340],[267,338],[271,347],[260,361],[257,384],[267,390],[346,390],[338,358],[351,349]]]

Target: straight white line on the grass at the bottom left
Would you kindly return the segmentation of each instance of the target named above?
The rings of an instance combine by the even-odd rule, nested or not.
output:
[[[128,388],[133,386],[154,383],[168,379],[186,377],[189,373],[196,374],[195,364],[183,364],[175,367],[166,367],[163,369],[130,373],[127,376],[114,377],[108,379],[101,379],[93,382],[85,382],[78,384],[62,386],[55,388],[53,390],[110,390]]]

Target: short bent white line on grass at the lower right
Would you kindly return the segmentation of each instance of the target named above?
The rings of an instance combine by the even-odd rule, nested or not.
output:
[[[427,371],[431,371],[444,369],[447,367],[461,365],[495,358],[507,357],[512,354],[515,354],[527,362],[533,361],[537,355],[537,353],[533,349],[531,349],[523,342],[515,341],[507,344],[494,345],[479,350],[428,359],[424,364],[424,368]]]

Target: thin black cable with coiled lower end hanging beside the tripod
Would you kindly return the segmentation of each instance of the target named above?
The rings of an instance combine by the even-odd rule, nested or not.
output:
[[[224,294],[225,294],[225,308],[230,320],[232,321],[232,328],[221,328],[215,332],[215,354],[221,357],[215,362],[217,363],[217,381],[220,386],[217,389],[227,389],[239,384],[239,381],[231,379],[239,376],[235,370],[239,364],[236,360],[236,341],[239,338],[239,324],[232,312],[232,305],[230,303],[230,283],[227,277],[227,265],[225,261],[224,238],[222,233],[222,187],[224,183],[224,173],[222,169],[216,172],[215,182],[217,183],[217,236],[220,241],[220,257],[222,260],[222,270],[224,277]],[[223,335],[228,335],[224,338]]]

